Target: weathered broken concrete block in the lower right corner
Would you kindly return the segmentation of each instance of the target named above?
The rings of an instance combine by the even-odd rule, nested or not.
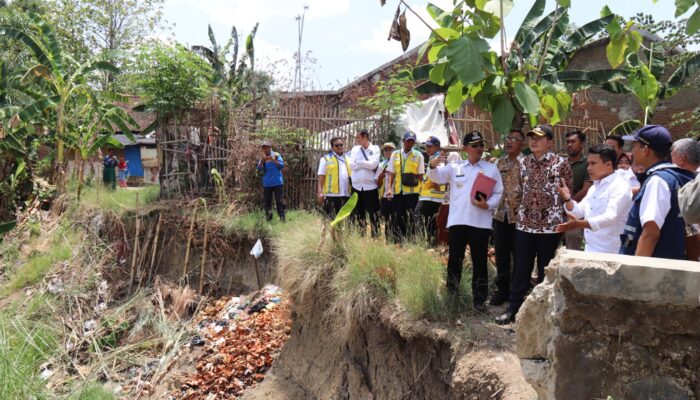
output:
[[[700,400],[700,263],[562,251],[516,332],[540,400]]]

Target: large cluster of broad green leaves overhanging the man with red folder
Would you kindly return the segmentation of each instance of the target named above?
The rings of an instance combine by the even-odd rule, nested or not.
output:
[[[428,13],[440,27],[423,48],[429,63],[414,69],[415,79],[428,80],[419,91],[446,93],[449,112],[471,100],[490,112],[494,130],[505,134],[513,126],[521,127],[526,118],[533,125],[539,119],[557,124],[571,109],[572,92],[623,77],[614,69],[564,73],[576,51],[613,16],[572,30],[569,1],[557,1],[547,15],[545,4],[534,2],[507,51],[503,19],[512,0],[466,0],[451,11],[429,4]],[[487,42],[499,34],[500,54]]]

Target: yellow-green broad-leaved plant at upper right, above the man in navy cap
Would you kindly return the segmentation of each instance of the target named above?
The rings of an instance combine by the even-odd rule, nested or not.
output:
[[[605,7],[603,15],[612,14]],[[660,100],[667,99],[683,87],[689,77],[700,72],[700,53],[683,58],[668,78],[664,79],[669,56],[674,49],[662,42],[644,40],[632,21],[622,25],[613,19],[607,26],[610,40],[606,46],[608,62],[614,68],[622,66],[624,80],[604,89],[618,94],[632,94],[642,110],[641,119],[623,121],[612,129],[615,133],[630,133],[650,123]]]

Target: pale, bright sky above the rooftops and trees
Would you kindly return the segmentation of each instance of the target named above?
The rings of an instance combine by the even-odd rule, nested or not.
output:
[[[247,35],[259,22],[255,39],[257,65],[273,73],[284,84],[290,82],[294,65],[292,57],[297,47],[295,17],[306,11],[302,54],[311,52],[306,63],[306,89],[332,89],[361,76],[402,54],[401,45],[387,41],[397,0],[166,0],[164,16],[174,24],[175,40],[187,45],[208,44],[207,24],[211,24],[217,40],[224,42],[231,26]],[[409,0],[411,8],[426,21],[425,1]],[[436,0],[448,9],[452,0]],[[604,5],[613,12],[630,17],[638,12],[650,13],[657,20],[673,19],[673,0],[572,0],[571,21],[586,23],[599,16]],[[506,35],[520,26],[532,1],[515,0],[506,17]],[[547,1],[547,10],[554,1]],[[411,47],[427,39],[430,31],[409,12],[408,27]],[[432,22],[432,21],[431,21]],[[312,60],[313,59],[313,60]]]

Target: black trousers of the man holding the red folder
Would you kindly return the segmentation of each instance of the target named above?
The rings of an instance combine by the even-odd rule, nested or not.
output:
[[[472,296],[474,304],[483,304],[489,291],[489,275],[486,266],[489,249],[490,229],[476,228],[468,225],[452,225],[449,228],[449,251],[447,261],[447,290],[459,293],[462,280],[462,264],[467,244],[472,257]]]

